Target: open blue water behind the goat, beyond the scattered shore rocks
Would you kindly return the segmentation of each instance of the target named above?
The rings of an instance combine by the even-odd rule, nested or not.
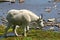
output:
[[[0,16],[6,17],[7,12],[11,9],[19,9],[19,10],[28,9],[34,12],[38,16],[43,14],[43,18],[45,20],[47,20],[48,18],[60,18],[60,14],[58,14],[58,12],[60,11],[60,3],[59,2],[56,3],[57,7],[55,9],[53,8],[54,7],[53,1],[50,3],[48,1],[49,0],[45,0],[45,1],[44,0],[25,0],[24,3],[18,3],[18,0],[16,0],[15,3],[2,2],[0,3]],[[51,12],[49,13],[45,12],[45,9],[47,7],[51,7]],[[1,24],[1,20],[0,20],[0,24]]]

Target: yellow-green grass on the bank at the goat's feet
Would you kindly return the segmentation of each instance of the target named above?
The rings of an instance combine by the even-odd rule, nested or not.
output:
[[[0,35],[3,35],[5,31],[5,27],[0,27]],[[12,29],[9,30],[11,32]],[[17,30],[18,33],[22,33],[21,29]],[[40,29],[30,29],[27,33],[27,37],[20,36],[20,37],[7,37],[7,38],[0,38],[0,40],[60,40],[60,32],[53,32],[53,31],[43,31]]]

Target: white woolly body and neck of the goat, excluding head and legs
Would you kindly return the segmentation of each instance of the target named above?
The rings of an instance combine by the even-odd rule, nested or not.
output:
[[[29,10],[10,10],[8,11],[7,20],[13,24],[22,24],[25,22],[36,21],[39,17]]]

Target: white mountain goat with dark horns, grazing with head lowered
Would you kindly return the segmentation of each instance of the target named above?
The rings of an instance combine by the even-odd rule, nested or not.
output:
[[[29,30],[29,23],[36,22],[39,27],[44,27],[43,19],[41,16],[37,16],[35,13],[22,9],[22,10],[9,10],[6,19],[8,20],[8,25],[5,29],[5,36],[7,34],[8,29],[13,26],[13,31],[15,32],[16,25],[23,27],[24,36],[26,36],[26,29]],[[16,33],[15,33],[16,34]],[[16,35],[19,36],[19,35]]]

